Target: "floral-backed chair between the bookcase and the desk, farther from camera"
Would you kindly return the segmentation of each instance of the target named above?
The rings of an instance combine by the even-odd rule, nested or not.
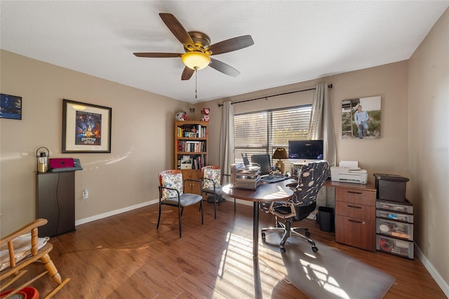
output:
[[[220,199],[223,194],[223,178],[227,177],[229,180],[230,175],[222,174],[220,166],[209,165],[201,168],[201,177],[203,178],[203,192],[206,194],[213,194],[213,213],[214,218],[217,219],[217,202],[218,205],[220,205]],[[234,199],[234,213],[235,212],[236,199]]]

